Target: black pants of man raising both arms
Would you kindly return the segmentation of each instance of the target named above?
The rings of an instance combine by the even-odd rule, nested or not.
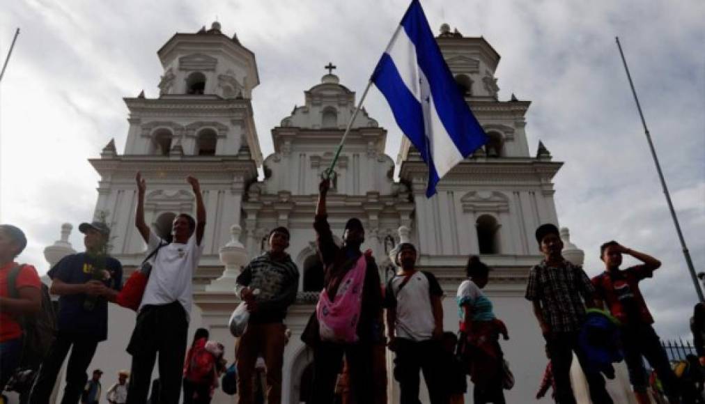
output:
[[[143,404],[147,401],[157,353],[159,403],[178,403],[187,333],[186,312],[179,302],[149,305],[140,310],[127,349],[133,357],[127,404]]]

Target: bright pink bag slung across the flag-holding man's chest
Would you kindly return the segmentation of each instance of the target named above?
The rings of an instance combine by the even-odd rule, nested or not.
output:
[[[360,321],[365,271],[367,271],[367,253],[360,255],[355,267],[343,276],[333,301],[325,289],[321,292],[316,306],[316,317],[320,324],[322,341],[357,342],[357,322]]]

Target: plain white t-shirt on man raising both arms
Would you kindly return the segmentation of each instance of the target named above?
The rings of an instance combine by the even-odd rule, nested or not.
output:
[[[166,242],[150,231],[147,250],[154,251],[159,243]],[[186,244],[170,243],[161,247],[157,255],[149,259],[152,273],[142,295],[140,310],[145,305],[168,305],[178,300],[189,319],[193,302],[193,272],[198,267],[202,252],[203,245],[196,244],[195,231]]]

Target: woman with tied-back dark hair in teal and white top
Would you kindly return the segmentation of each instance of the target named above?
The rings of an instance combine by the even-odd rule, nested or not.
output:
[[[458,287],[460,354],[474,384],[473,403],[504,404],[503,353],[499,335],[509,339],[504,323],[492,312],[492,302],[482,293],[489,267],[479,257],[467,260],[467,279]]]

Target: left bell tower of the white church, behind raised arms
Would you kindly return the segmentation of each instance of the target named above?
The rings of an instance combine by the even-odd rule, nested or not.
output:
[[[114,141],[90,162],[101,176],[95,215],[111,227],[111,253],[138,264],[145,249],[133,225],[135,173],[147,181],[145,219],[170,228],[176,214],[195,214],[185,177],[201,182],[207,208],[201,267],[219,267],[219,247],[240,225],[245,186],[262,164],[252,118],[252,90],[259,84],[255,54],[220,23],[195,33],[176,33],[157,51],[164,73],[159,95],[125,98],[129,110],[123,154]]]

